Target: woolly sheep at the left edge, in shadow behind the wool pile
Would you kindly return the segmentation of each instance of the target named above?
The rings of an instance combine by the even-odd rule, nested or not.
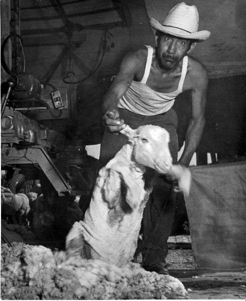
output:
[[[11,215],[14,224],[22,225],[30,211],[29,199],[24,193],[14,194],[9,188],[1,186],[1,211]]]

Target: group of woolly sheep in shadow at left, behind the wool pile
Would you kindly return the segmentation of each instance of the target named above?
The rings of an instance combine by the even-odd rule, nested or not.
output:
[[[55,237],[59,214],[63,218],[63,226],[68,229],[82,219],[79,198],[69,201],[66,211],[61,212],[45,201],[40,184],[34,186],[33,190],[37,192],[14,194],[9,188],[1,187],[2,224],[20,234],[24,241],[45,241]]]

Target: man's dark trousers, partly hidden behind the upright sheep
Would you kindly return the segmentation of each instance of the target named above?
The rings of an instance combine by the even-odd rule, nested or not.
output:
[[[170,135],[169,149],[173,163],[177,162],[177,115],[173,109],[155,116],[138,115],[121,108],[119,111],[120,118],[133,129],[147,124],[165,128]],[[126,136],[105,131],[101,144],[100,164],[106,165],[126,142]],[[173,187],[165,182],[163,177],[159,177],[143,212],[141,229],[143,240],[139,241],[138,245],[138,250],[142,252],[143,265],[165,262],[168,252],[167,239],[172,230],[174,211]]]

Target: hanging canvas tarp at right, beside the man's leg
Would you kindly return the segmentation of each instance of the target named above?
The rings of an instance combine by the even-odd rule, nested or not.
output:
[[[246,267],[246,162],[190,168],[186,208],[200,269]]]

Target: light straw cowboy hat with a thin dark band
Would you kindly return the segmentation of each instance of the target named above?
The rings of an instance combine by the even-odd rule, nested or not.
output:
[[[162,25],[153,18],[150,18],[152,28],[165,34],[183,39],[193,39],[197,42],[205,41],[210,32],[197,31],[199,24],[198,11],[194,5],[188,6],[184,2],[177,4],[167,14]]]

